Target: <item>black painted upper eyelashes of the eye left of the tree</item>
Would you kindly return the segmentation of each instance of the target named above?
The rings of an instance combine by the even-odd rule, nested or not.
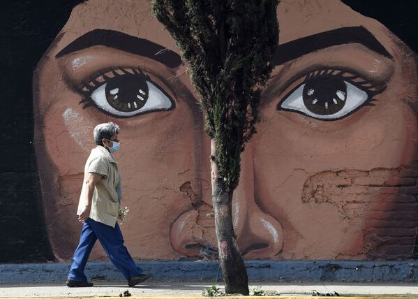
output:
[[[122,74],[117,73],[117,71],[121,71]],[[109,74],[111,73],[113,76],[110,77]],[[123,68],[123,67],[116,67],[116,68],[108,68],[107,70],[100,71],[96,75],[93,75],[89,77],[89,82],[86,82],[85,80],[82,80],[82,87],[75,87],[78,92],[84,95],[84,98],[80,101],[79,104],[82,104],[82,108],[87,107],[96,107],[96,103],[94,103],[93,100],[91,100],[91,94],[94,92],[96,88],[98,88],[100,85],[103,85],[107,82],[107,80],[110,80],[112,78],[117,78],[124,75],[139,75],[142,77],[143,80],[151,80],[149,78],[149,75],[144,73],[139,67],[136,68]],[[99,78],[103,78],[103,81],[98,81]],[[87,90],[86,90],[87,89]]]

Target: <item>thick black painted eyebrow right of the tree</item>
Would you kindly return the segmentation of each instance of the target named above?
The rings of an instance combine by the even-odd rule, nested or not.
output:
[[[344,45],[349,43],[359,43],[366,48],[378,52],[379,54],[393,59],[385,47],[364,27],[343,27],[319,34],[313,34],[296,41],[290,41],[283,45],[278,45],[274,58],[271,63],[276,66],[287,61],[301,57],[320,49],[328,48],[333,45]]]

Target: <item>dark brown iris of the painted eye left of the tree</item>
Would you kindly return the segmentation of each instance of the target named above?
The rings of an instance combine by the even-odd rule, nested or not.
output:
[[[106,100],[116,110],[140,110],[147,103],[149,89],[142,75],[123,75],[108,80]]]

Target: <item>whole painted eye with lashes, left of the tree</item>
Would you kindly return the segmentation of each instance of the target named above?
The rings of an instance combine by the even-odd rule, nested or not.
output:
[[[141,71],[121,71],[122,74],[112,71],[112,78],[101,75],[103,82],[94,80],[94,87],[85,85],[89,89],[89,97],[82,102],[91,101],[91,104],[113,117],[133,117],[174,108],[170,96]]]

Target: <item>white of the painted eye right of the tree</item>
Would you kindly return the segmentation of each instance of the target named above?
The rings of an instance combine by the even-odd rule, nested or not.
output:
[[[338,112],[332,115],[318,115],[308,110],[308,108],[306,108],[304,104],[304,98],[303,98],[303,92],[304,92],[304,87],[305,87],[304,84],[302,84],[296,90],[294,90],[294,92],[292,92],[292,94],[290,94],[288,98],[285,99],[283,103],[281,103],[281,108],[303,112],[305,115],[318,118],[318,119],[341,118],[347,115],[348,113],[352,112],[352,110],[358,108],[361,104],[363,104],[368,99],[368,94],[364,92],[364,90],[361,90],[358,87],[355,87],[350,82],[347,82],[347,81],[344,81],[344,82],[345,82],[345,86],[347,87],[346,103],[343,109],[339,110]],[[341,91],[338,91],[338,92],[341,92]],[[344,94],[343,92],[341,92],[341,94],[338,94],[338,92],[337,92],[338,97]]]

